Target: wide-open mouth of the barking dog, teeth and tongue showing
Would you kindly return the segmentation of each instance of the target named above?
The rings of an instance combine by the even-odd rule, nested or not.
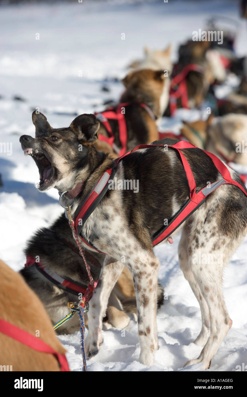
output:
[[[38,172],[40,174],[40,181],[37,183],[38,189],[48,189],[53,183],[54,167],[50,160],[48,160],[46,154],[33,148],[24,149],[24,154],[25,156],[32,156],[38,167]]]

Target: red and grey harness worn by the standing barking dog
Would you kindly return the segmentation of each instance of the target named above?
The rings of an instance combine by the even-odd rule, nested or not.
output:
[[[116,160],[116,163],[118,163],[120,160],[122,160],[125,156],[128,154],[134,152],[135,150],[138,149],[143,149],[143,148],[153,148],[157,146],[162,146],[164,145],[138,145],[134,150],[131,152],[128,152],[126,154],[123,154],[123,156],[119,157]],[[179,141],[175,143],[174,145],[165,145],[167,147],[170,147],[174,150],[177,150],[178,153],[180,154],[182,164],[184,166],[184,170],[186,172],[187,180],[188,180],[188,185],[190,188],[190,198],[184,204],[184,206],[174,215],[174,217],[168,222],[168,225],[165,226],[161,231],[157,232],[153,237],[153,247],[157,244],[159,244],[161,241],[164,239],[168,238],[176,229],[178,226],[180,226],[203,202],[205,201],[206,197],[212,193],[215,189],[217,189],[219,186],[229,183],[231,185],[235,185],[239,187],[247,195],[247,191],[245,188],[238,182],[234,181],[230,175],[230,172],[228,171],[228,168],[218,159],[218,157],[214,156],[214,154],[207,152],[206,150],[203,150],[213,161],[214,165],[216,166],[217,170],[220,172],[222,175],[222,179],[219,179],[218,181],[215,181],[211,183],[210,186],[205,186],[203,189],[201,189],[198,193],[195,192],[196,185],[195,185],[195,179],[193,177],[193,173],[191,171],[190,165],[188,161],[186,160],[186,157],[184,154],[181,152],[182,149],[189,149],[189,148],[197,148],[196,146],[192,145],[190,142],[187,141]],[[202,150],[202,149],[200,149]],[[98,252],[101,252],[98,250],[96,247],[90,243],[90,241],[87,241],[86,237],[82,234],[82,227],[84,223],[86,222],[86,219],[96,206],[99,204],[99,202],[102,200],[104,195],[107,193],[108,190],[108,181],[109,179],[113,179],[115,175],[115,168],[106,170],[103,175],[101,176],[100,180],[94,187],[93,191],[90,193],[90,195],[84,200],[82,203],[82,206],[80,206],[77,211],[75,212],[75,228],[77,231],[77,234],[79,235],[80,239],[84,241],[86,245],[89,247],[95,249]],[[102,252],[105,254],[105,252]]]

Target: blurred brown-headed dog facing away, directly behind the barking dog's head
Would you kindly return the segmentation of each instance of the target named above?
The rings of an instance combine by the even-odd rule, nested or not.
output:
[[[158,139],[157,124],[163,116],[169,101],[169,78],[163,70],[142,69],[130,72],[123,80],[126,88],[120,102],[124,105],[123,114],[127,129],[126,151],[136,145],[146,144]],[[146,105],[146,108],[142,106]],[[114,110],[114,109],[113,109]],[[114,144],[121,148],[119,124],[117,120],[109,119]],[[100,122],[100,135],[108,137],[105,125]],[[118,157],[109,143],[98,141],[98,150],[109,152],[113,158]]]

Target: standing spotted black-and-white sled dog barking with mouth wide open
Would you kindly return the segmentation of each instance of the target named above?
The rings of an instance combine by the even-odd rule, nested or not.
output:
[[[136,194],[132,190],[108,190],[82,228],[88,241],[107,254],[100,283],[90,301],[86,351],[88,356],[98,353],[108,297],[125,265],[133,276],[136,291],[139,359],[143,364],[152,365],[158,349],[156,287],[159,271],[152,236],[163,227],[164,219],[171,219],[189,198],[188,179],[181,159],[172,148],[153,147],[136,150],[116,165],[107,154],[94,147],[99,129],[95,116],[78,116],[68,128],[61,129],[50,127],[42,114],[34,114],[33,122],[36,136],[40,136],[40,131],[43,136],[34,139],[23,135],[20,141],[25,154],[31,154],[38,166],[39,190],[55,187],[71,191],[78,183],[83,184],[71,204],[72,217],[105,170],[115,167],[118,180],[139,180]],[[174,143],[176,141],[165,139],[153,144]],[[79,145],[83,150],[78,150]],[[182,152],[193,172],[197,190],[203,189],[209,181],[222,179],[211,158],[201,149]],[[237,173],[228,170],[232,179],[241,183]],[[224,302],[222,279],[224,266],[246,235],[246,195],[239,187],[221,185],[176,231],[181,229],[179,262],[201,308],[202,329],[195,343],[204,346],[199,357],[186,365],[202,362],[202,368],[206,369],[232,326]],[[223,259],[220,264],[215,261],[202,264],[198,258],[203,254],[221,255]]]

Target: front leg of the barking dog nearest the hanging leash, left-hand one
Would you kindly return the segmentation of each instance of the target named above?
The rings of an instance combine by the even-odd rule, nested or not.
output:
[[[88,358],[90,356],[95,356],[98,353],[103,341],[101,335],[102,319],[106,314],[110,293],[113,290],[122,270],[123,264],[121,262],[116,261],[110,256],[105,258],[100,281],[90,300],[90,308],[88,312],[88,335],[85,342],[86,355]]]

